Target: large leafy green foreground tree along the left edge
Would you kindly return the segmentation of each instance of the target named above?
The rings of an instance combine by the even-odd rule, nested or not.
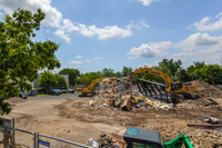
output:
[[[59,46],[50,40],[32,41],[40,30],[44,13],[38,9],[14,11],[12,17],[4,16],[0,21],[0,96],[9,99],[18,96],[19,90],[30,90],[38,70],[60,67],[54,51]],[[0,100],[1,115],[10,112],[9,103]]]

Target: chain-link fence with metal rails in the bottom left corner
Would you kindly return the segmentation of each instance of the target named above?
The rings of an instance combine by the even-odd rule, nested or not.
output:
[[[3,130],[13,130],[12,136],[3,134]],[[87,145],[64,140],[61,138],[30,132],[27,130],[1,126],[0,148],[91,148]]]

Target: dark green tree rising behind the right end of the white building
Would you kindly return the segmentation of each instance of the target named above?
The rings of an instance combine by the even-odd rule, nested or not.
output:
[[[75,79],[78,77],[80,77],[80,71],[78,69],[65,68],[65,69],[62,69],[59,73],[60,75],[68,75],[69,76],[69,83],[72,85],[72,86],[75,85]]]

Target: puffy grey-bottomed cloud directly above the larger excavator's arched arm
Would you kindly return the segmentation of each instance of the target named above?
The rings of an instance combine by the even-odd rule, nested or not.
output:
[[[151,42],[151,43],[143,43],[140,47],[133,47],[127,53],[130,58],[151,58],[151,57],[160,57],[164,56],[168,52],[165,49],[171,48],[173,43],[171,41],[162,41],[162,42]]]

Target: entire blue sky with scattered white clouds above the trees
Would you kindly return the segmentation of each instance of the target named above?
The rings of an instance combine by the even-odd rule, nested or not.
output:
[[[162,59],[222,62],[221,0],[0,0],[0,21],[19,7],[46,19],[33,40],[60,43],[63,68],[81,72]]]

